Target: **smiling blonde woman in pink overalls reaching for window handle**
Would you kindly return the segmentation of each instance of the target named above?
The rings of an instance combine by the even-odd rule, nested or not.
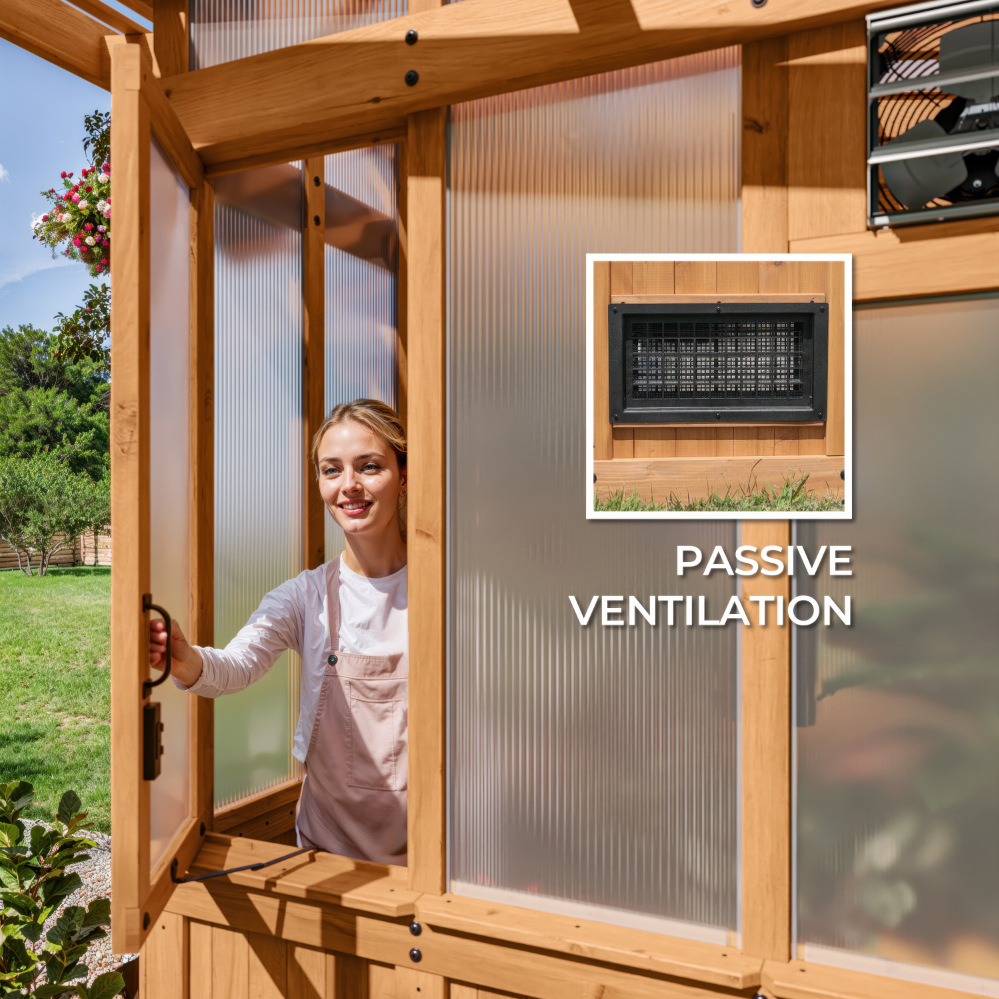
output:
[[[173,627],[174,680],[218,697],[259,680],[281,654],[302,657],[293,753],[308,777],[296,813],[299,846],[406,863],[408,619],[406,438],[394,410],[359,399],[337,406],[312,457],[344,554],[268,593],[224,649],[188,644]],[[166,631],[150,622],[150,665]]]

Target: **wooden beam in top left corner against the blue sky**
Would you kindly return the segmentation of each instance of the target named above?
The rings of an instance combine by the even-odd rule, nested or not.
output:
[[[0,0],[0,38],[111,89],[110,29],[62,0]]]

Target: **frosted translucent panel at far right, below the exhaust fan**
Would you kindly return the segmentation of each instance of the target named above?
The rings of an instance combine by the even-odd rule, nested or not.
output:
[[[999,979],[999,299],[854,333],[857,513],[810,529],[853,546],[852,578],[816,583],[853,625],[796,635],[798,942]]]

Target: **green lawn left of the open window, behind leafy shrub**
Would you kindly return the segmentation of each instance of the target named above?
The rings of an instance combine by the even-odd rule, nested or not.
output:
[[[27,780],[26,818],[74,790],[111,831],[111,570],[0,572],[0,781]]]

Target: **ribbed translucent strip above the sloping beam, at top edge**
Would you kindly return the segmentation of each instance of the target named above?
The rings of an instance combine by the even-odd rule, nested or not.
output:
[[[191,0],[191,69],[402,17],[407,0]]]

